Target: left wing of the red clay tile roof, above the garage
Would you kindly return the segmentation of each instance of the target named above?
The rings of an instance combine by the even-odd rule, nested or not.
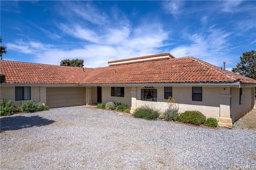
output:
[[[79,84],[91,68],[0,61],[6,83],[65,83]]]

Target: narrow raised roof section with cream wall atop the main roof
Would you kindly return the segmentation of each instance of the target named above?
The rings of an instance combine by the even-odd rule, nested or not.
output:
[[[142,62],[149,62],[149,61],[168,60],[171,58],[175,58],[175,57],[170,53],[163,53],[163,54],[148,55],[148,56],[142,56],[142,57],[110,61],[108,62],[108,65],[109,66],[124,65],[124,64],[142,63]]]

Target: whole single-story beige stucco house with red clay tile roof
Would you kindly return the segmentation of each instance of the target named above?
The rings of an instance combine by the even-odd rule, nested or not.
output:
[[[34,100],[50,108],[114,101],[164,110],[172,96],[179,111],[199,111],[231,128],[254,106],[256,80],[195,57],[170,53],[108,62],[97,68],[0,61],[1,98]]]

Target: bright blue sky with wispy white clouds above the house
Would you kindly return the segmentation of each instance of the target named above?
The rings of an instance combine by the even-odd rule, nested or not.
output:
[[[1,1],[3,60],[86,67],[158,53],[228,69],[256,50],[255,1]]]

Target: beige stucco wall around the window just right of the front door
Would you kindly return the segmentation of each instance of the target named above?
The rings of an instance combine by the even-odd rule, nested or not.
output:
[[[131,107],[131,87],[124,87],[124,97],[111,96],[111,87],[102,87],[102,103],[109,101],[122,103]]]

